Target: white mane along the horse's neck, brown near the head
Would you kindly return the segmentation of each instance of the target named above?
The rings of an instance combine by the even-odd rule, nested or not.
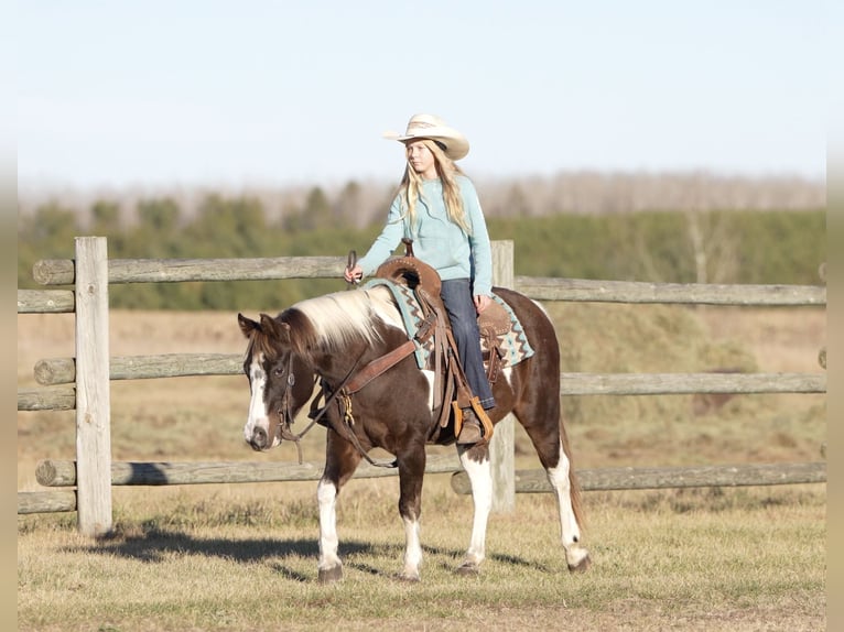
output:
[[[338,351],[360,340],[374,345],[381,340],[378,320],[402,327],[392,295],[383,286],[307,298],[284,310],[280,320],[290,325],[291,344],[300,352],[317,347]]]

